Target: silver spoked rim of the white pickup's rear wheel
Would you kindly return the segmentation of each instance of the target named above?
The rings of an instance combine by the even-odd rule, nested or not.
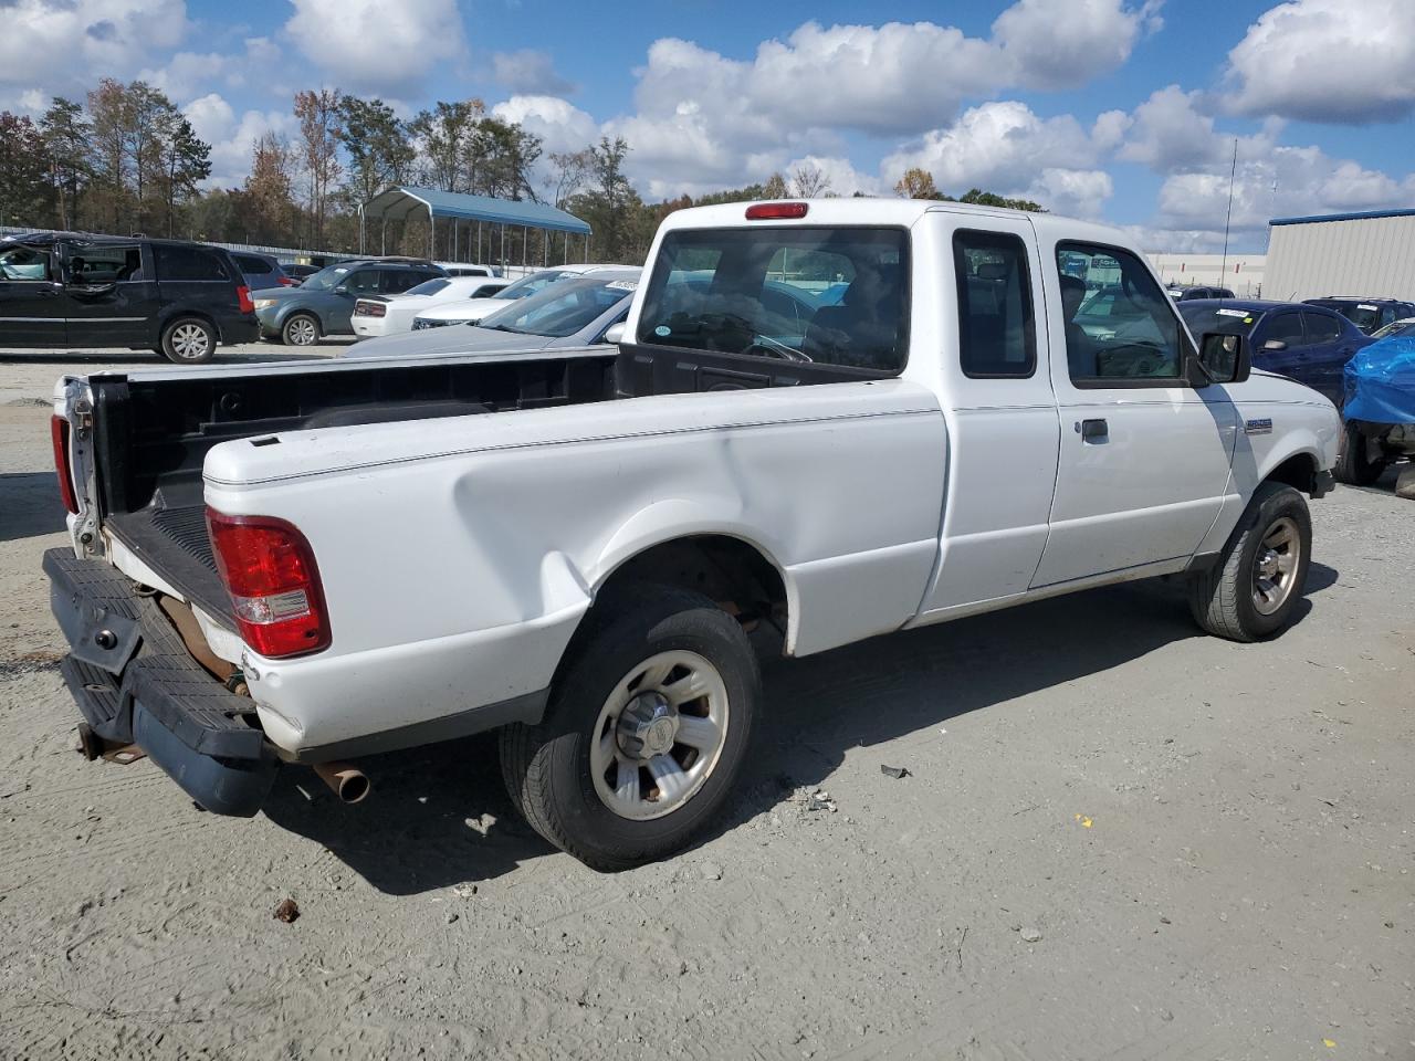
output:
[[[590,737],[594,792],[620,818],[664,818],[717,768],[727,740],[727,686],[696,652],[658,652],[614,686]]]

